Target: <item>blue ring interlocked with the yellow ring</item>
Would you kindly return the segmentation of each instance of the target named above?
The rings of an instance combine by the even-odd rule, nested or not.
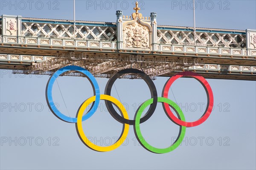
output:
[[[65,122],[70,122],[70,123],[76,123],[77,122],[77,118],[73,118],[73,117],[68,117],[65,116],[63,113],[61,113],[58,108],[56,108],[56,106],[54,105],[53,99],[52,99],[52,86],[53,83],[55,82],[55,80],[57,79],[57,77],[59,75],[61,75],[64,72],[67,71],[78,71],[81,74],[84,74],[84,76],[86,76],[91,85],[93,86],[93,92],[94,95],[96,96],[96,100],[93,103],[93,106],[91,107],[90,111],[88,111],[83,117],[82,117],[82,121],[89,119],[90,116],[93,115],[93,113],[96,112],[98,106],[99,106],[99,100],[100,100],[100,92],[99,92],[99,85],[98,82],[96,81],[95,77],[93,77],[93,75],[87,71],[86,69],[76,66],[76,65],[69,65],[63,68],[60,68],[58,71],[56,71],[48,80],[47,82],[47,86],[46,86],[46,91],[45,91],[45,95],[46,95],[46,100],[47,100],[47,104],[50,108],[50,110],[52,111],[52,113],[57,116],[59,119],[65,121]]]

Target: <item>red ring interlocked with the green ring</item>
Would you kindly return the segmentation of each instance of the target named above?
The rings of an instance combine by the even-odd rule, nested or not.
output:
[[[172,113],[172,111],[169,107],[169,104],[163,103],[163,106],[164,106],[163,108],[164,108],[166,114],[170,117],[170,119],[172,119],[172,121],[177,125],[186,126],[186,127],[194,127],[194,126],[200,125],[201,123],[206,121],[206,119],[210,116],[210,114],[212,112],[212,107],[213,107],[212,88],[210,87],[209,83],[206,81],[206,79],[204,77],[200,76],[199,74],[197,74],[195,72],[184,71],[184,72],[175,74],[173,77],[171,77],[166,82],[166,84],[163,87],[163,94],[162,94],[163,97],[168,98],[168,92],[169,92],[169,89],[170,89],[172,83],[180,77],[193,77],[193,78],[197,79],[204,86],[204,90],[207,94],[207,107],[206,107],[206,110],[205,110],[203,116],[201,116],[201,118],[195,122],[184,122],[184,121],[178,119]]]

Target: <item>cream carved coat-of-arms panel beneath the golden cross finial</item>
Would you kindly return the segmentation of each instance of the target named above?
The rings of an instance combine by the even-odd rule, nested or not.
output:
[[[149,30],[146,26],[135,22],[126,26],[123,34],[126,48],[149,48]]]

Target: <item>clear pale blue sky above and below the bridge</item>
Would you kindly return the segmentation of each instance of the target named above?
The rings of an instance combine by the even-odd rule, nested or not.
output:
[[[7,2],[8,4],[6,5]],[[0,1],[0,14],[23,17],[73,19],[73,1]],[[16,3],[15,3],[16,2]],[[140,12],[157,12],[158,25],[193,26],[191,1],[140,1]],[[256,1],[198,1],[196,26],[203,28],[256,29]],[[4,6],[3,6],[4,4]],[[16,5],[17,4],[17,5]],[[37,5],[35,5],[37,4]],[[43,4],[43,6],[41,6]],[[111,6],[110,6],[111,5]],[[76,19],[116,21],[116,10],[131,15],[134,1],[76,0]],[[125,144],[107,153],[87,148],[74,124],[57,119],[47,107],[45,87],[49,76],[17,75],[0,70],[0,169],[255,169],[256,168],[256,82],[207,79],[214,94],[214,110],[206,122],[186,129],[181,146],[166,154],[145,150],[130,126]],[[166,77],[154,84],[161,95]],[[97,78],[104,94],[106,78]],[[82,77],[59,77],[53,86],[53,99],[60,111],[75,116],[81,102],[93,95],[90,83]],[[112,96],[125,104],[134,117],[139,103],[150,98],[143,80],[118,79]],[[67,105],[65,107],[61,93]],[[175,81],[169,98],[177,102],[188,121],[198,119],[206,105],[204,88],[195,79]],[[201,109],[202,107],[202,109]],[[83,122],[84,131],[96,144],[114,142],[122,124],[105,109]],[[145,139],[155,147],[167,147],[179,127],[165,115],[158,103],[153,116],[141,125]],[[7,141],[6,141],[7,140]],[[12,140],[12,142],[10,142]],[[26,143],[25,143],[26,141]],[[16,146],[16,145],[17,146]]]

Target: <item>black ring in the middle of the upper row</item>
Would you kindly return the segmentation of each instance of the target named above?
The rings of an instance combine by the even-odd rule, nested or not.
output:
[[[154,82],[152,81],[152,79],[147,74],[145,74],[143,71],[140,71],[140,70],[134,69],[134,68],[127,68],[127,69],[118,71],[115,75],[113,75],[113,77],[111,77],[108,80],[108,83],[107,83],[106,88],[105,88],[105,94],[111,96],[111,89],[112,89],[112,86],[113,86],[114,82],[116,81],[116,79],[118,79],[123,74],[128,74],[128,73],[137,74],[138,76],[140,76],[147,83],[148,88],[149,88],[150,93],[151,93],[151,98],[153,98],[153,103],[150,105],[147,113],[140,119],[140,123],[143,123],[152,116],[152,114],[154,113],[154,111],[157,107],[157,89],[154,85]],[[114,107],[113,107],[113,105],[110,101],[105,100],[105,104],[107,106],[108,112],[118,122],[126,123],[126,124],[129,124],[129,125],[135,125],[135,120],[125,119],[122,116],[120,116],[115,111],[115,109],[114,109]]]

